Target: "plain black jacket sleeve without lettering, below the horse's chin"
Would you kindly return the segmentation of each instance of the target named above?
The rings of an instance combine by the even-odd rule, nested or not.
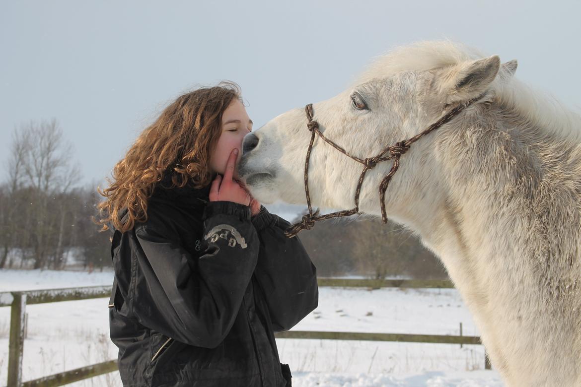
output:
[[[254,275],[266,296],[274,331],[287,331],[317,308],[317,270],[299,238],[285,236],[289,222],[261,207],[252,223],[260,241]]]

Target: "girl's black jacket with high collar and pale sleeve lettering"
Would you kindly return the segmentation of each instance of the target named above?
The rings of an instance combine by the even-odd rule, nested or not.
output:
[[[113,236],[110,334],[124,386],[285,386],[274,331],[317,307],[315,267],[263,207],[166,190]],[[288,367],[287,367],[288,369]]]

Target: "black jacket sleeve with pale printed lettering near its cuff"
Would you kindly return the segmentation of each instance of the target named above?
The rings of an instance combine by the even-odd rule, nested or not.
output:
[[[145,281],[139,289],[146,291],[134,296],[132,308],[148,328],[189,345],[214,348],[234,324],[259,245],[247,206],[210,202],[205,219],[206,249],[197,262],[167,223],[150,219],[136,227],[144,253],[138,255]]]

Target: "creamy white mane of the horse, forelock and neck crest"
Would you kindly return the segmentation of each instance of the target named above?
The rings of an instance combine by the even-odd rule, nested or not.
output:
[[[422,41],[400,46],[371,63],[355,84],[386,78],[403,71],[428,71],[486,57],[474,48],[451,41]],[[534,91],[501,67],[492,84],[498,102],[517,111],[525,120],[558,138],[581,142],[581,115],[553,96]]]

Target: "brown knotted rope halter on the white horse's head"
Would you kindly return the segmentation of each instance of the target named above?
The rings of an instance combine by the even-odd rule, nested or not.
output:
[[[353,155],[347,153],[345,149],[340,147],[339,145],[335,144],[331,140],[321,133],[319,130],[319,124],[317,121],[313,120],[313,104],[310,103],[305,106],[304,111],[307,114],[307,129],[311,132],[311,141],[309,143],[309,148],[307,148],[307,157],[304,162],[304,192],[307,196],[307,206],[309,207],[309,214],[303,215],[302,220],[300,222],[291,225],[288,230],[286,230],[285,235],[286,237],[292,238],[296,236],[301,230],[310,230],[315,225],[315,222],[319,220],[325,220],[330,218],[339,218],[342,216],[350,216],[353,214],[358,214],[359,212],[359,194],[361,193],[361,186],[363,186],[363,180],[365,179],[365,174],[370,169],[375,168],[375,166],[382,161],[393,160],[392,168],[390,169],[389,173],[381,180],[379,184],[379,202],[381,205],[381,219],[383,223],[388,222],[388,216],[385,212],[385,191],[388,189],[389,182],[392,179],[392,176],[397,172],[397,168],[399,168],[399,162],[401,155],[405,154],[408,150],[410,150],[411,144],[416,142],[417,140],[421,139],[428,133],[434,131],[435,129],[439,128],[440,126],[449,122],[452,118],[456,117],[456,115],[460,114],[462,110],[467,108],[470,104],[474,103],[475,101],[479,100],[481,97],[477,97],[473,100],[470,100],[466,104],[459,104],[458,106],[454,107],[448,113],[443,115],[442,118],[434,122],[432,125],[428,126],[423,132],[418,133],[414,137],[400,141],[395,145],[388,146],[383,149],[378,155],[374,157],[369,157],[365,159],[361,159],[358,157],[354,157]],[[347,157],[352,158],[353,160],[363,164],[363,171],[361,171],[361,175],[359,176],[359,181],[357,183],[357,189],[355,191],[355,208],[353,209],[345,209],[343,211],[331,212],[331,214],[319,215],[319,210],[313,212],[313,207],[311,206],[311,196],[309,193],[309,161],[311,158],[311,150],[313,150],[313,143],[315,142],[315,135],[318,135],[324,142],[331,145],[336,150],[340,151],[341,153],[345,154]],[[389,155],[386,155],[389,153]]]

